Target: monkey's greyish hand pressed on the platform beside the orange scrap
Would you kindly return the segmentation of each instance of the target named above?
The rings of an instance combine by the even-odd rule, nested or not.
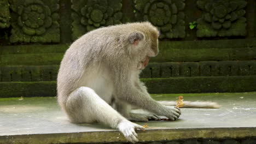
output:
[[[169,118],[171,121],[176,121],[181,115],[181,109],[174,106],[165,106],[165,110],[162,111],[162,115]]]

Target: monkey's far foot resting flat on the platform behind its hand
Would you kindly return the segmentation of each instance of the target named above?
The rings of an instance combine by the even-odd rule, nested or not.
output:
[[[128,119],[133,122],[148,122],[150,119],[160,121],[161,117],[153,113],[130,113],[130,117]]]

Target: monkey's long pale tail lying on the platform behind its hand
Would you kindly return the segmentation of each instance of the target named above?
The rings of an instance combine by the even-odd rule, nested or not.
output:
[[[176,106],[176,101],[158,101],[162,105]],[[207,109],[218,109],[219,104],[211,101],[183,101],[184,106],[181,108],[207,108]]]

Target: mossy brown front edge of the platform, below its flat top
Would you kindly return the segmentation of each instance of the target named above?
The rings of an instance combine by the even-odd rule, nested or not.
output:
[[[253,128],[198,128],[198,129],[149,129],[138,132],[139,142],[187,139],[227,140],[256,139],[256,127]],[[254,140],[255,142],[256,140]],[[60,143],[126,143],[126,139],[118,130],[59,133],[59,134],[28,134],[0,136],[0,143],[19,144],[60,144]]]

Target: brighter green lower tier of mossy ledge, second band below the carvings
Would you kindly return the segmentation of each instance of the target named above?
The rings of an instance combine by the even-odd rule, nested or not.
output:
[[[64,52],[1,55],[0,65],[60,64]],[[255,47],[226,49],[162,49],[150,62],[250,61],[256,58]]]

